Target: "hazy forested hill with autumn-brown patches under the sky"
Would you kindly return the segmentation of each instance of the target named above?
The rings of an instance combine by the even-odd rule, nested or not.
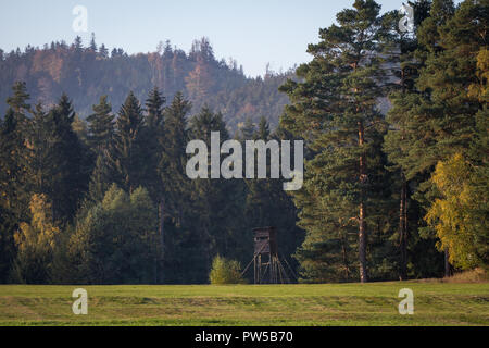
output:
[[[233,129],[247,117],[258,123],[265,116],[275,126],[288,102],[278,87],[290,75],[271,72],[249,78],[236,61],[217,60],[206,38],[196,40],[188,53],[166,41],[155,52],[129,55],[123,49],[109,51],[95,39],[84,47],[79,37],[72,45],[28,46],[10,53],[0,49],[0,100],[9,97],[14,82],[24,80],[35,102],[49,105],[66,92],[83,119],[102,95],[118,110],[130,90],[143,100],[158,86],[167,99],[183,91],[192,102],[192,113],[204,104],[221,111]],[[5,109],[0,103],[1,115]]]

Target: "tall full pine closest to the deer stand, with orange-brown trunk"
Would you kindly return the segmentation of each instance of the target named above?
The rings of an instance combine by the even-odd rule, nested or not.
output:
[[[309,46],[313,61],[297,70],[304,82],[281,87],[292,100],[281,124],[308,139],[312,152],[296,204],[302,210],[300,226],[308,231],[298,257],[304,276],[315,281],[350,278],[352,248],[361,282],[368,279],[367,211],[376,209],[373,188],[381,164],[375,146],[384,129],[376,108],[383,96],[380,53],[392,25],[379,10],[375,1],[358,0],[338,13],[339,25],[321,29],[322,41]],[[349,240],[355,226],[356,246]],[[331,271],[336,275],[327,274]]]

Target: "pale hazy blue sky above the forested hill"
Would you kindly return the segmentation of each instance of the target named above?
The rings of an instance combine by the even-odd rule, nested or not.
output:
[[[170,39],[185,51],[193,39],[209,37],[216,58],[233,57],[247,75],[287,70],[309,61],[308,44],[317,42],[322,27],[353,0],[15,0],[0,2],[0,48],[42,46],[52,40],[71,44],[80,35],[88,45],[121,47],[128,53],[154,51]],[[402,0],[380,0],[383,12],[399,9]],[[88,10],[88,32],[75,33],[75,5]]]

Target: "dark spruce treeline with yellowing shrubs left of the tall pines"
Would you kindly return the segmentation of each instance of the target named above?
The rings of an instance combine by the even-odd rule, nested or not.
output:
[[[221,113],[190,116],[158,88],[117,115],[103,96],[86,123],[64,94],[47,109],[28,100],[16,83],[0,125],[1,282],[206,283],[215,256],[251,260],[253,227],[275,225],[286,256],[300,245],[281,183],[186,176],[190,139],[230,137]],[[235,137],[283,136],[262,119]]]

